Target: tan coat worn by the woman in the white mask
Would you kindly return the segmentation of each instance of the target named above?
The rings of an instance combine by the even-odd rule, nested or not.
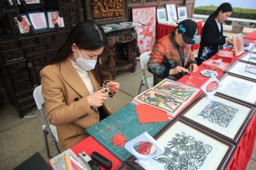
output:
[[[88,74],[93,88],[99,88],[92,72]],[[88,136],[84,129],[99,122],[99,112],[88,104],[90,93],[68,59],[45,66],[40,76],[47,118],[57,127],[60,147],[71,148]],[[105,104],[103,107],[111,112]]]

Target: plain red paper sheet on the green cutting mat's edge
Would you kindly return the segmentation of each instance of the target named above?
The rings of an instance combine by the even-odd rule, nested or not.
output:
[[[169,120],[165,111],[153,108],[147,104],[139,104],[136,105],[135,108],[141,124],[165,122]]]

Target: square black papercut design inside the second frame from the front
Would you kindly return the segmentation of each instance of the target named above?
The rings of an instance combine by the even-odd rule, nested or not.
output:
[[[198,116],[209,120],[213,124],[220,125],[220,127],[228,127],[237,111],[237,108],[227,106],[227,104],[211,101],[205,106],[204,110],[200,111]]]

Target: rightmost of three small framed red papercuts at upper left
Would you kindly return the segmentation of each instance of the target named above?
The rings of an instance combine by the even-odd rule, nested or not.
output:
[[[46,11],[49,28],[54,28],[54,24],[65,27],[63,17],[59,16],[59,11]]]

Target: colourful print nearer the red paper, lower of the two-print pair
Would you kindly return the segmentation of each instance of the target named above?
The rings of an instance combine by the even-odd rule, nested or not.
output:
[[[136,100],[172,113],[177,112],[184,103],[181,99],[157,92],[156,90],[148,90],[144,94],[136,97]]]

